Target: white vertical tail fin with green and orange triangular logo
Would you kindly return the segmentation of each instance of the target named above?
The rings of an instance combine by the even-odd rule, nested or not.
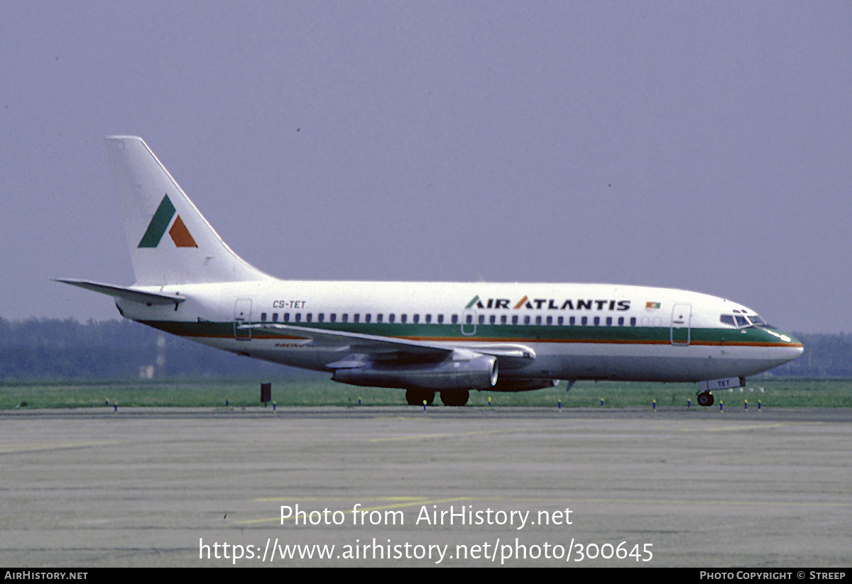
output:
[[[269,278],[227,247],[141,138],[106,140],[135,285]]]

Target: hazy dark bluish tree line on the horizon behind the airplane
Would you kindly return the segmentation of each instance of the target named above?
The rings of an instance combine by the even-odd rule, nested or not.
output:
[[[795,334],[805,347],[773,376],[852,377],[852,335]],[[0,380],[299,375],[130,320],[0,318]]]

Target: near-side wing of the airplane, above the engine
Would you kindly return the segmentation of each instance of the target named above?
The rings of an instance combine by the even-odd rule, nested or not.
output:
[[[527,362],[535,358],[535,352],[528,346],[496,343],[438,343],[429,341],[413,341],[399,337],[364,335],[342,330],[314,329],[281,323],[252,323],[242,324],[240,329],[262,330],[273,335],[309,339],[311,345],[337,346],[340,352],[351,352],[353,358],[344,358],[335,363],[327,364],[330,369],[360,367],[366,358],[409,358],[414,361],[442,360],[451,355],[464,358],[470,356],[493,355],[509,367],[517,366],[518,360]],[[505,363],[504,363],[505,362]]]

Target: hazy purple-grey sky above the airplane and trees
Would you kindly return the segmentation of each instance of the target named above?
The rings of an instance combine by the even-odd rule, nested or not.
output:
[[[694,289],[852,330],[852,4],[0,3],[0,317],[118,318],[102,137],[279,278]]]

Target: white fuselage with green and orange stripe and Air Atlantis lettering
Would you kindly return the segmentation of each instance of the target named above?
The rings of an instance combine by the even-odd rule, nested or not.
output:
[[[187,301],[176,308],[119,300],[124,316],[305,369],[327,370],[346,355],[348,344],[239,326],[287,323],[474,351],[500,344],[529,347],[534,358],[501,363],[501,379],[702,381],[755,375],[803,351],[800,342],[772,327],[721,322],[723,314],[754,315],[745,306],[676,289],[261,280],[147,290]]]

